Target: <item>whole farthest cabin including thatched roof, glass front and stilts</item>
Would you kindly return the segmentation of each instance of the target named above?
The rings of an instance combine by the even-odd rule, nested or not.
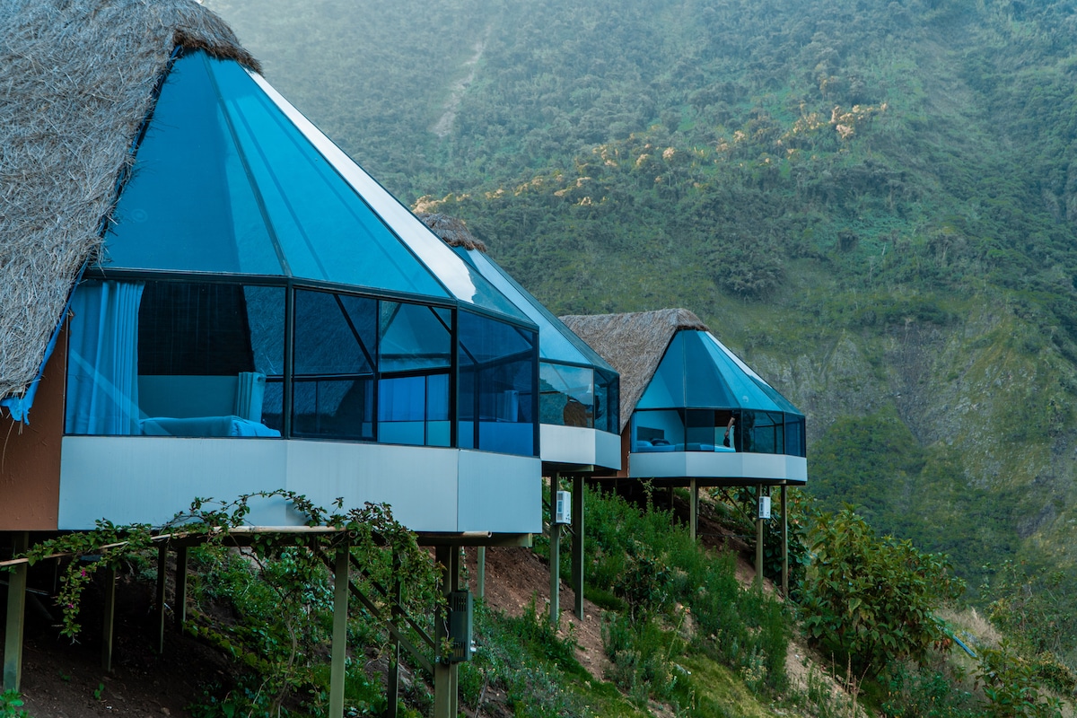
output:
[[[785,549],[786,489],[808,481],[803,413],[687,309],[561,319],[620,372],[617,477],[687,487],[693,537],[701,488],[753,487],[761,578],[770,491],[780,490]]]

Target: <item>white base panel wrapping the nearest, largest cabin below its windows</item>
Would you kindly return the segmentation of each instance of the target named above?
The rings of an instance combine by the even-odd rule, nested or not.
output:
[[[195,497],[286,489],[326,509],[391,505],[418,532],[537,533],[541,462],[481,451],[277,439],[64,437],[59,527],[98,519],[162,525]],[[473,503],[474,502],[474,503]],[[282,499],[252,502],[249,523],[297,525]]]

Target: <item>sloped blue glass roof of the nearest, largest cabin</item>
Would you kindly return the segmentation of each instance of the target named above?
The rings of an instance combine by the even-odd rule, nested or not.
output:
[[[324,281],[527,321],[262,78],[202,52],[162,88],[102,264]]]

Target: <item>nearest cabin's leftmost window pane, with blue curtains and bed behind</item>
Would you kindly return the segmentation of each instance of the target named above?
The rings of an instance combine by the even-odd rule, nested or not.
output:
[[[72,298],[66,431],[279,436],[265,423],[279,403],[265,402],[246,298],[238,284],[81,285]]]

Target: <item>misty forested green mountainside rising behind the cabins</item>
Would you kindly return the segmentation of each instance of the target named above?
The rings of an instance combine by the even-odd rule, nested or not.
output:
[[[974,596],[1072,568],[1074,2],[207,4],[554,311],[702,316],[807,411],[827,504]]]

